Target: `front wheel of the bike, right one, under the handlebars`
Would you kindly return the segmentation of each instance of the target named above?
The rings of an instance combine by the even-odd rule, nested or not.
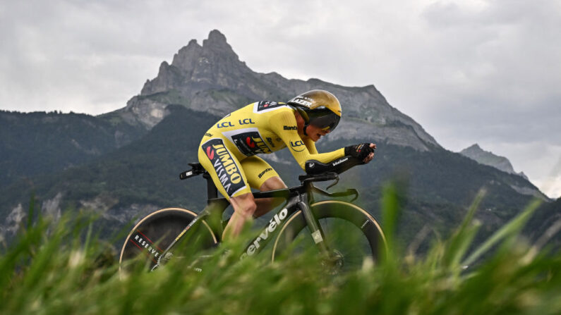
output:
[[[337,200],[325,200],[310,205],[313,215],[318,218],[325,236],[325,242],[337,256],[338,271],[351,271],[361,268],[365,259],[377,261],[386,250],[385,236],[378,222],[368,212],[354,204]],[[344,230],[330,228],[335,224]],[[302,211],[292,214],[282,226],[275,245],[272,248],[272,261],[280,257],[291,257],[298,253],[295,242],[302,242],[300,247],[315,248],[313,239]],[[343,234],[337,232],[344,232]],[[353,233],[354,237],[349,234]],[[352,253],[352,254],[349,254]],[[331,253],[330,253],[331,254]],[[355,254],[359,256],[354,257]]]

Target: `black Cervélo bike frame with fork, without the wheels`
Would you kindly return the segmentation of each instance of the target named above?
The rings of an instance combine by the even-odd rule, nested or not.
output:
[[[189,174],[188,177],[191,177],[191,174]],[[203,209],[203,211],[201,211],[198,216],[193,218],[193,221],[191,221],[188,226],[186,226],[181,231],[181,233],[179,233],[175,240],[171,242],[171,244],[164,250],[164,252],[162,252],[162,254],[158,258],[156,267],[162,263],[162,257],[164,257],[164,259],[167,259],[165,257],[167,257],[167,254],[169,253],[171,248],[174,247],[174,245],[176,245],[181,239],[191,236],[191,233],[189,233],[190,231],[197,230],[196,227],[200,226],[200,224],[205,221],[205,219],[210,218],[214,214],[219,214],[219,217],[222,218],[222,214],[229,206],[230,203],[228,199],[217,197],[217,188],[212,182],[212,178],[210,178],[210,175],[208,173],[203,173],[203,178],[207,180],[207,206],[205,206],[205,209]],[[301,185],[296,187],[253,193],[253,197],[255,199],[282,197],[286,200],[286,204],[282,207],[282,209],[277,211],[274,216],[272,216],[270,221],[261,230],[261,233],[248,243],[246,249],[240,256],[240,259],[251,257],[261,252],[261,250],[267,246],[270,240],[275,238],[278,233],[277,228],[279,226],[282,226],[286,219],[289,218],[292,214],[296,213],[296,211],[298,210],[302,211],[303,213],[303,217],[306,220],[306,225],[310,230],[310,234],[313,237],[315,245],[318,247],[320,252],[322,252],[322,254],[325,254],[326,256],[328,255],[330,249],[324,242],[325,235],[322,231],[318,219],[313,216],[312,211],[310,210],[310,206],[308,206],[308,204],[312,204],[314,202],[313,192],[325,195],[327,197],[344,197],[354,194],[354,199],[358,197],[358,192],[354,189],[349,189],[344,192],[330,193],[321,190],[320,188],[313,185],[313,182],[315,181],[338,181],[338,176],[336,173],[327,173],[320,176],[306,175],[301,176],[300,180]],[[332,185],[330,185],[329,187],[331,186]],[[212,230],[212,233],[215,233],[215,235],[217,236],[217,239],[221,240],[223,232],[222,224],[210,224],[209,226]]]

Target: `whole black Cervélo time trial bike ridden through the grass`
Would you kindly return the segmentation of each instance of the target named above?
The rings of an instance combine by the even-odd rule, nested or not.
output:
[[[352,204],[358,198],[358,191],[326,191],[338,183],[340,173],[358,164],[361,161],[351,156],[331,163],[306,161],[306,175],[298,176],[301,185],[253,192],[255,199],[276,197],[285,202],[260,233],[248,242],[240,258],[253,257],[272,242],[272,247],[269,247],[272,261],[315,247],[330,273],[360,268],[366,260],[378,259],[385,252],[384,233],[371,214]],[[203,271],[195,261],[205,249],[217,247],[221,242],[227,224],[227,221],[222,221],[222,214],[229,202],[217,196],[212,178],[200,163],[189,165],[191,169],[181,173],[179,178],[183,180],[203,175],[207,181],[207,206],[199,214],[188,209],[166,208],[140,219],[121,249],[121,268],[130,268],[131,264],[127,261],[136,258],[137,264],[140,261],[152,271],[169,259],[182,257],[190,259],[188,266]],[[326,190],[314,185],[315,182],[330,180],[334,183]],[[330,199],[318,201],[316,195]],[[350,196],[354,197],[351,202],[333,199]]]

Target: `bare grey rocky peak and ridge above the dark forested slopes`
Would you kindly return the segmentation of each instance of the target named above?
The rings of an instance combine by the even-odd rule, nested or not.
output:
[[[133,125],[150,129],[180,104],[195,111],[224,116],[253,101],[287,101],[310,89],[327,89],[343,105],[343,119],[327,140],[365,138],[418,151],[440,145],[409,116],[387,103],[373,85],[343,87],[318,79],[288,80],[277,73],[255,73],[239,60],[217,30],[199,45],[195,39],[179,49],[171,64],[162,62],[156,78],[139,95],[114,112]]]

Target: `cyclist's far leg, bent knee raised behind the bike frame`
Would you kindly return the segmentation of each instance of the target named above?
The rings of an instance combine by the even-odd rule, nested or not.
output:
[[[241,161],[249,185],[262,192],[286,188],[279,174],[258,156],[249,156]],[[284,198],[255,199],[257,210],[253,216],[258,218],[284,201]]]

